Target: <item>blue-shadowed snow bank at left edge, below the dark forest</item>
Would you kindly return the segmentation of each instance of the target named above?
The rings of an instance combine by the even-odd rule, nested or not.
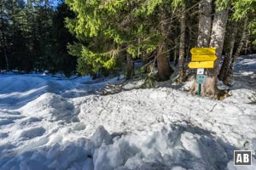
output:
[[[19,108],[45,93],[61,94],[65,98],[93,94],[107,83],[84,86],[84,81],[91,81],[91,77],[67,79],[36,74],[0,76],[0,107]]]

